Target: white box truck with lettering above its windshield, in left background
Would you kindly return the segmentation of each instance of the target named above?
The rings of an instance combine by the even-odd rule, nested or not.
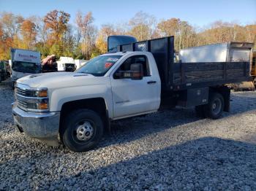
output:
[[[12,63],[12,87],[20,77],[26,77],[30,74],[38,74],[41,72],[41,56],[40,52],[23,49],[11,50]]]

